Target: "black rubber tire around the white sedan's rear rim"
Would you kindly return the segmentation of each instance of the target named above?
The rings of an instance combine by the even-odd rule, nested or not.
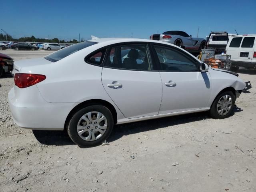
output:
[[[82,116],[84,116],[88,112],[93,112],[93,111],[100,112],[106,117],[107,128],[106,128],[106,131],[104,132],[104,134],[97,140],[86,141],[78,135],[77,126],[78,126],[78,122]],[[113,116],[112,116],[110,110],[102,105],[92,105],[92,106],[80,108],[70,117],[70,120],[67,123],[67,131],[68,131],[68,135],[70,136],[71,140],[75,144],[77,144],[78,146],[81,146],[81,147],[91,147],[91,146],[97,146],[97,145],[102,144],[102,142],[104,142],[110,136],[113,126],[114,126],[114,119],[113,119]]]

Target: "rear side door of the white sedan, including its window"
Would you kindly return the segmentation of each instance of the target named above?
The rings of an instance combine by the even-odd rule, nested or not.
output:
[[[152,70],[145,42],[110,47],[102,69],[102,84],[126,118],[158,114],[162,83],[159,72]]]

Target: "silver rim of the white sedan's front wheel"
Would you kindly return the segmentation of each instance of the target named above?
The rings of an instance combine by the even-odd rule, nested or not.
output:
[[[224,116],[228,114],[232,108],[232,97],[228,94],[222,96],[217,104],[217,112],[219,115]]]

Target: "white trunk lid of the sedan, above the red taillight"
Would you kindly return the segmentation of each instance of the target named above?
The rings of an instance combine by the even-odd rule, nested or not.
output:
[[[14,62],[14,73],[19,73],[21,68],[29,67],[29,66],[38,66],[52,63],[51,61],[45,58],[34,58],[34,59],[26,59],[19,60]]]

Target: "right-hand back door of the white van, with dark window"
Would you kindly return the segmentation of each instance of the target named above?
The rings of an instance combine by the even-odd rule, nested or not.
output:
[[[251,62],[253,58],[255,37],[244,37],[238,53],[238,61]]]

